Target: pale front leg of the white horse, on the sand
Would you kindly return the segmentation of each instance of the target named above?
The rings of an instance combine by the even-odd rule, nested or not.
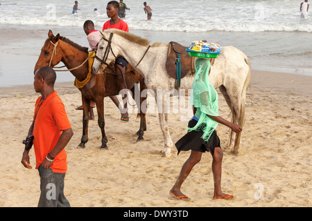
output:
[[[160,93],[160,95],[162,96],[162,93]],[[171,140],[169,127],[166,121],[166,113],[164,109],[165,101],[160,97],[158,98],[157,93],[155,93],[155,99],[158,109],[159,125],[162,129],[162,135],[164,136],[164,148],[162,149],[162,153],[164,153],[166,157],[171,157],[171,147],[173,146],[173,142]]]

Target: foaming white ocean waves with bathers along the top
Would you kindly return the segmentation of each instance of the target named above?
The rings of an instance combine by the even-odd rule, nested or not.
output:
[[[312,32],[311,19],[300,19],[303,0],[155,0],[148,1],[153,21],[146,22],[142,0],[125,0],[125,21],[131,30],[182,32]],[[80,0],[78,14],[72,15],[74,1],[2,0],[1,24],[79,26],[92,18],[98,26],[107,20],[108,1]],[[94,8],[101,15],[93,16]]]

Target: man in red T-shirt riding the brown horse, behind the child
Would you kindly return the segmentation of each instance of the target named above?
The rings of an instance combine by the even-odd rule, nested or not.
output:
[[[103,25],[103,31],[108,29],[108,28],[116,28],[119,30],[123,30],[125,32],[129,32],[128,24],[125,23],[122,19],[118,17],[118,11],[119,11],[119,3],[118,1],[110,1],[107,3],[106,7],[106,14],[110,18],[110,20],[106,21]],[[120,90],[126,89],[125,86],[125,81],[123,79],[123,75],[125,75],[125,69],[127,68],[128,61],[121,55],[117,56],[116,61],[115,61],[115,66],[116,66],[116,76],[118,81],[120,82]],[[128,97],[127,95],[123,95],[123,102],[125,102],[123,108],[124,108],[124,113],[121,114],[121,120],[123,122],[128,122],[129,121],[129,116],[128,116],[128,108],[127,108],[127,103],[128,103]]]

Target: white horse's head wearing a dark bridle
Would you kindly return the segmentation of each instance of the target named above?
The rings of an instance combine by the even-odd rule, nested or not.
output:
[[[98,50],[96,51],[96,59],[94,59],[92,69],[95,73],[98,72],[102,64],[110,64],[119,55],[118,47],[113,46],[113,32],[105,30],[102,32],[102,39],[98,42]]]

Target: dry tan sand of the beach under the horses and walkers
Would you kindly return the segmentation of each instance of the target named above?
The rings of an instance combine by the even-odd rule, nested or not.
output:
[[[108,151],[99,149],[97,120],[89,122],[89,142],[78,148],[82,135],[80,92],[73,82],[55,84],[64,102],[74,135],[66,147],[68,171],[64,192],[71,206],[210,207],[210,206],[311,206],[312,77],[252,71],[247,93],[246,120],[238,155],[227,146],[228,130],[219,125],[223,147],[222,187],[236,199],[212,200],[214,182],[211,155],[205,153],[182,186],[191,202],[169,200],[168,191],[189,152],[170,158],[160,151],[163,137],[157,114],[148,114],[144,141],[136,142],[136,114],[119,120],[116,106],[105,99]],[[37,206],[40,178],[37,170],[20,163],[35,100],[33,85],[0,88],[0,206]],[[219,113],[229,119],[229,108],[219,96]],[[95,116],[97,117],[96,111]],[[184,135],[187,122],[169,114],[173,142]],[[35,166],[35,154],[30,152]],[[262,198],[263,197],[263,198]]]

